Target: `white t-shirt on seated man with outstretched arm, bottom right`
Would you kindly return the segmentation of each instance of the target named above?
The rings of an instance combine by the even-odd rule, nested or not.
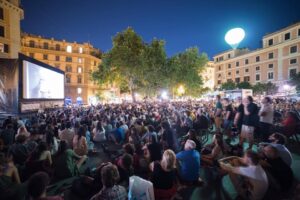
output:
[[[269,182],[264,169],[260,165],[236,167],[234,168],[233,172],[248,178],[250,184],[252,185],[250,199],[263,199],[268,190]]]

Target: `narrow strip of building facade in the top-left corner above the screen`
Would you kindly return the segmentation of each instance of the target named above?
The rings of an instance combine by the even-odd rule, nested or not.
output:
[[[0,0],[0,58],[18,58],[23,18],[19,0]]]

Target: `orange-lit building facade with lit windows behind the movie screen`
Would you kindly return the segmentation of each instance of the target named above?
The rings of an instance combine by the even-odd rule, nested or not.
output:
[[[100,50],[89,43],[79,44],[54,38],[22,34],[21,53],[65,72],[65,98],[90,104],[99,92],[90,77],[100,64]]]

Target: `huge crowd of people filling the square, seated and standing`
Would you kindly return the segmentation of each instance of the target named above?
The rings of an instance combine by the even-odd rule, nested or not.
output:
[[[288,195],[294,184],[285,146],[299,130],[298,104],[251,96],[234,100],[139,102],[66,107],[8,117],[0,132],[0,199],[60,200],[47,187],[80,176],[83,199],[125,200],[130,177],[149,180],[155,199],[201,187],[203,168],[229,175],[240,199]],[[80,170],[100,146],[122,149],[93,173]]]

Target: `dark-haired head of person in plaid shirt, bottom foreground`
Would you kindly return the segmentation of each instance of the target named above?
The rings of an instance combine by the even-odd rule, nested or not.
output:
[[[106,188],[111,188],[119,181],[118,168],[113,164],[108,164],[101,169],[102,184]]]

